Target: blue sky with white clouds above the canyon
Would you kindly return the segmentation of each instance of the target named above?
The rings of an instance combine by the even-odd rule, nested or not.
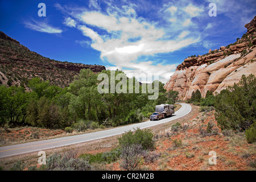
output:
[[[166,82],[186,57],[236,42],[255,15],[254,0],[1,0],[0,31],[50,59],[158,73]]]

